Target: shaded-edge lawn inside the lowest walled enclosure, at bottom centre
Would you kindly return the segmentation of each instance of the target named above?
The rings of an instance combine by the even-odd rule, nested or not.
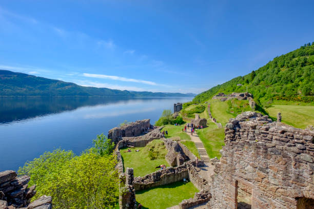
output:
[[[141,203],[143,208],[165,209],[193,197],[195,192],[199,191],[191,182],[180,181],[149,190],[136,191],[136,201]]]

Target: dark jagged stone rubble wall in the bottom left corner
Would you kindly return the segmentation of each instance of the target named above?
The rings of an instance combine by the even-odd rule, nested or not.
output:
[[[0,208],[50,209],[50,196],[30,202],[36,194],[36,185],[27,188],[29,180],[29,176],[17,177],[14,171],[0,172]]]

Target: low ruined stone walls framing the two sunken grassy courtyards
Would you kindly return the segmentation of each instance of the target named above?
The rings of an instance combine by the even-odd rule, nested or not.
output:
[[[133,124],[135,129],[139,129],[139,124],[147,126],[146,122],[149,120],[136,121]],[[122,128],[114,128],[116,133],[122,132]],[[109,133],[112,133],[110,130]],[[130,129],[131,130],[131,129]],[[141,129],[140,129],[141,130]],[[189,208],[194,205],[199,205],[201,203],[206,203],[210,194],[208,192],[208,182],[205,178],[198,174],[195,166],[203,166],[204,162],[202,160],[197,160],[195,155],[193,155],[185,145],[178,141],[172,141],[171,139],[166,139],[164,135],[160,132],[161,129],[150,129],[144,135],[134,136],[134,137],[118,137],[119,140],[116,143],[114,154],[117,159],[117,170],[120,175],[120,197],[119,205],[120,208],[135,208],[136,205],[136,191],[149,189],[151,187],[165,185],[177,181],[183,181],[183,179],[190,179],[190,181],[200,190],[199,193],[195,193],[193,198],[188,200],[183,200],[180,203],[181,208]],[[113,136],[113,135],[110,135]],[[118,139],[117,138],[117,139]],[[132,168],[125,168],[125,173],[123,172],[123,161],[120,153],[120,149],[126,147],[145,147],[147,143],[154,139],[163,139],[165,142],[165,147],[168,150],[166,155],[166,160],[171,165],[171,167],[156,171],[154,173],[148,174],[143,177],[134,177]]]

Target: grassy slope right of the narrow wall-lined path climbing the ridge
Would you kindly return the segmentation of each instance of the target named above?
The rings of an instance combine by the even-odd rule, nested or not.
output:
[[[218,99],[211,99],[210,112],[212,117],[216,118],[217,122],[220,122],[224,127],[230,118],[234,118],[233,115],[227,112],[229,106],[226,101],[220,101]]]

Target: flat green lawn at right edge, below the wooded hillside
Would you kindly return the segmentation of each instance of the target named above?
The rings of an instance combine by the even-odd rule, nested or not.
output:
[[[314,126],[314,106],[272,105],[266,111],[274,118],[277,118],[277,113],[281,112],[282,122],[296,128]]]

